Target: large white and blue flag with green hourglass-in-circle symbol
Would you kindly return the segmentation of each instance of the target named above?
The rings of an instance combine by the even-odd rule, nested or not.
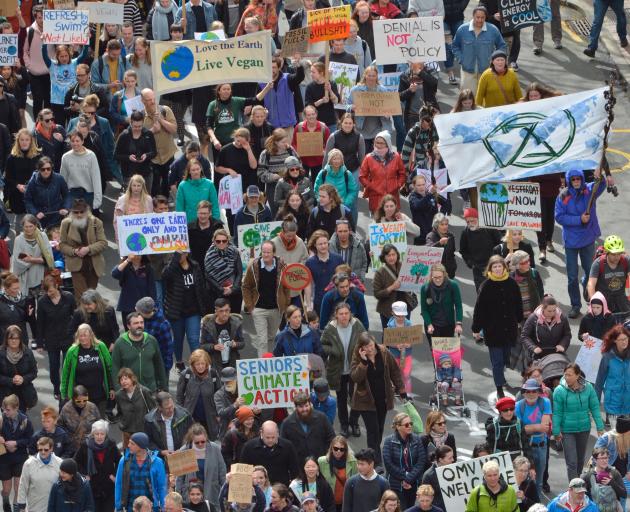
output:
[[[451,180],[446,190],[595,169],[604,145],[607,90],[435,116]]]

